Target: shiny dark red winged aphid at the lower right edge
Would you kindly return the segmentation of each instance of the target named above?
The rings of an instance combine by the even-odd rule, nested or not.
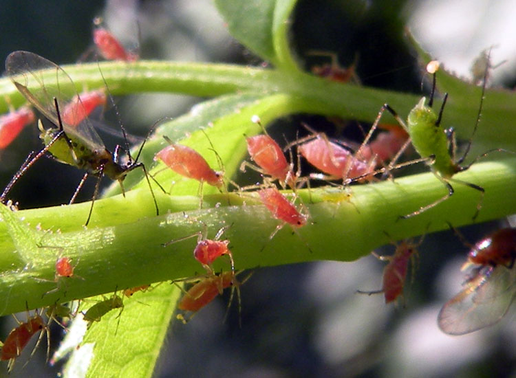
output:
[[[442,307],[439,328],[464,335],[504,317],[516,295],[516,229],[504,228],[476,243],[462,269],[474,265],[462,291]]]

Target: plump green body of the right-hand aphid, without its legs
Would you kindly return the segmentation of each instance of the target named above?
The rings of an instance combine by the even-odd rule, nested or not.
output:
[[[436,113],[424,104],[424,100],[422,97],[407,119],[412,145],[421,157],[433,157],[433,170],[449,178],[457,173],[457,169],[449,154],[447,136],[436,124]]]

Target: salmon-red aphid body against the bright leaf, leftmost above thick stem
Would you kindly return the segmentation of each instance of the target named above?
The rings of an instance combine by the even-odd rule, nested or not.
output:
[[[171,143],[158,152],[154,159],[160,159],[171,170],[184,177],[206,182],[211,186],[224,186],[224,175],[210,168],[204,157],[193,148]]]

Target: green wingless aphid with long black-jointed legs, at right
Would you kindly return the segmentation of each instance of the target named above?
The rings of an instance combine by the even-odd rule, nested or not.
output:
[[[435,67],[431,67],[431,70]],[[441,109],[438,114],[436,114],[432,107],[433,104],[433,95],[435,93],[436,88],[436,74],[433,74],[433,87],[429,100],[429,104],[425,105],[426,98],[422,97],[421,100],[416,104],[407,118],[407,124],[401,120],[399,115],[392,109],[389,104],[384,104],[380,112],[378,113],[378,117],[376,118],[373,126],[378,124],[381,116],[384,111],[389,111],[394,118],[398,121],[398,123],[409,133],[411,138],[412,146],[417,151],[417,153],[421,156],[422,159],[419,161],[426,162],[431,171],[436,177],[446,186],[448,192],[440,199],[429,203],[429,205],[422,206],[418,210],[411,212],[410,214],[401,216],[401,218],[410,218],[411,216],[416,216],[421,214],[422,212],[433,208],[438,205],[442,201],[445,201],[449,197],[451,197],[454,193],[453,186],[451,183],[458,183],[469,186],[475,190],[478,190],[481,193],[480,201],[477,203],[477,211],[475,212],[473,219],[476,218],[478,212],[480,212],[480,208],[482,208],[482,200],[484,198],[484,188],[478,186],[476,184],[472,184],[466,181],[462,181],[459,179],[453,178],[456,173],[462,172],[464,170],[469,169],[473,163],[480,159],[480,157],[484,157],[493,151],[505,151],[502,148],[496,148],[491,151],[487,151],[486,153],[478,156],[473,162],[467,164],[466,166],[461,166],[464,159],[466,159],[466,155],[469,153],[469,149],[471,148],[471,143],[473,140],[473,135],[475,135],[475,131],[477,130],[477,126],[480,122],[480,113],[482,111],[482,103],[484,100],[484,92],[485,92],[485,84],[486,84],[486,76],[487,70],[484,73],[484,85],[482,85],[482,96],[480,98],[480,109],[478,111],[477,120],[475,122],[475,127],[473,129],[473,133],[471,135],[471,139],[466,146],[464,151],[464,155],[460,157],[460,159],[455,159],[455,137],[453,135],[453,130],[445,130],[441,126],[442,113],[444,111],[444,104],[446,104],[448,93],[444,94],[444,99],[441,105]],[[449,151],[449,139],[451,139],[451,153]],[[387,168],[389,169],[389,168]]]

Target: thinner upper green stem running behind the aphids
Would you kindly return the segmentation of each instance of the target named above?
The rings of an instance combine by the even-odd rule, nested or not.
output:
[[[289,93],[323,115],[372,122],[381,105],[388,102],[402,118],[418,102],[420,96],[330,82],[299,71],[288,75],[275,69],[241,67],[215,63],[178,63],[142,60],[127,64],[117,62],[63,65],[76,83],[77,90],[102,88],[105,84],[114,95],[144,92],[185,93],[194,96],[219,96],[238,91],[256,93]],[[100,76],[102,71],[105,78]],[[51,73],[49,73],[51,74]],[[450,93],[444,122],[450,122],[460,137],[471,135],[475,124],[480,94],[477,87],[457,87]],[[466,90],[467,89],[467,90]],[[472,90],[471,90],[472,89]],[[507,104],[514,94],[498,89],[488,90],[484,117],[476,141],[491,147],[515,146],[516,110]],[[6,98],[15,106],[24,102],[8,78],[0,79],[0,111],[7,111]],[[489,98],[495,100],[491,101]],[[499,114],[503,115],[500,118]],[[386,115],[385,121],[394,122]]]

